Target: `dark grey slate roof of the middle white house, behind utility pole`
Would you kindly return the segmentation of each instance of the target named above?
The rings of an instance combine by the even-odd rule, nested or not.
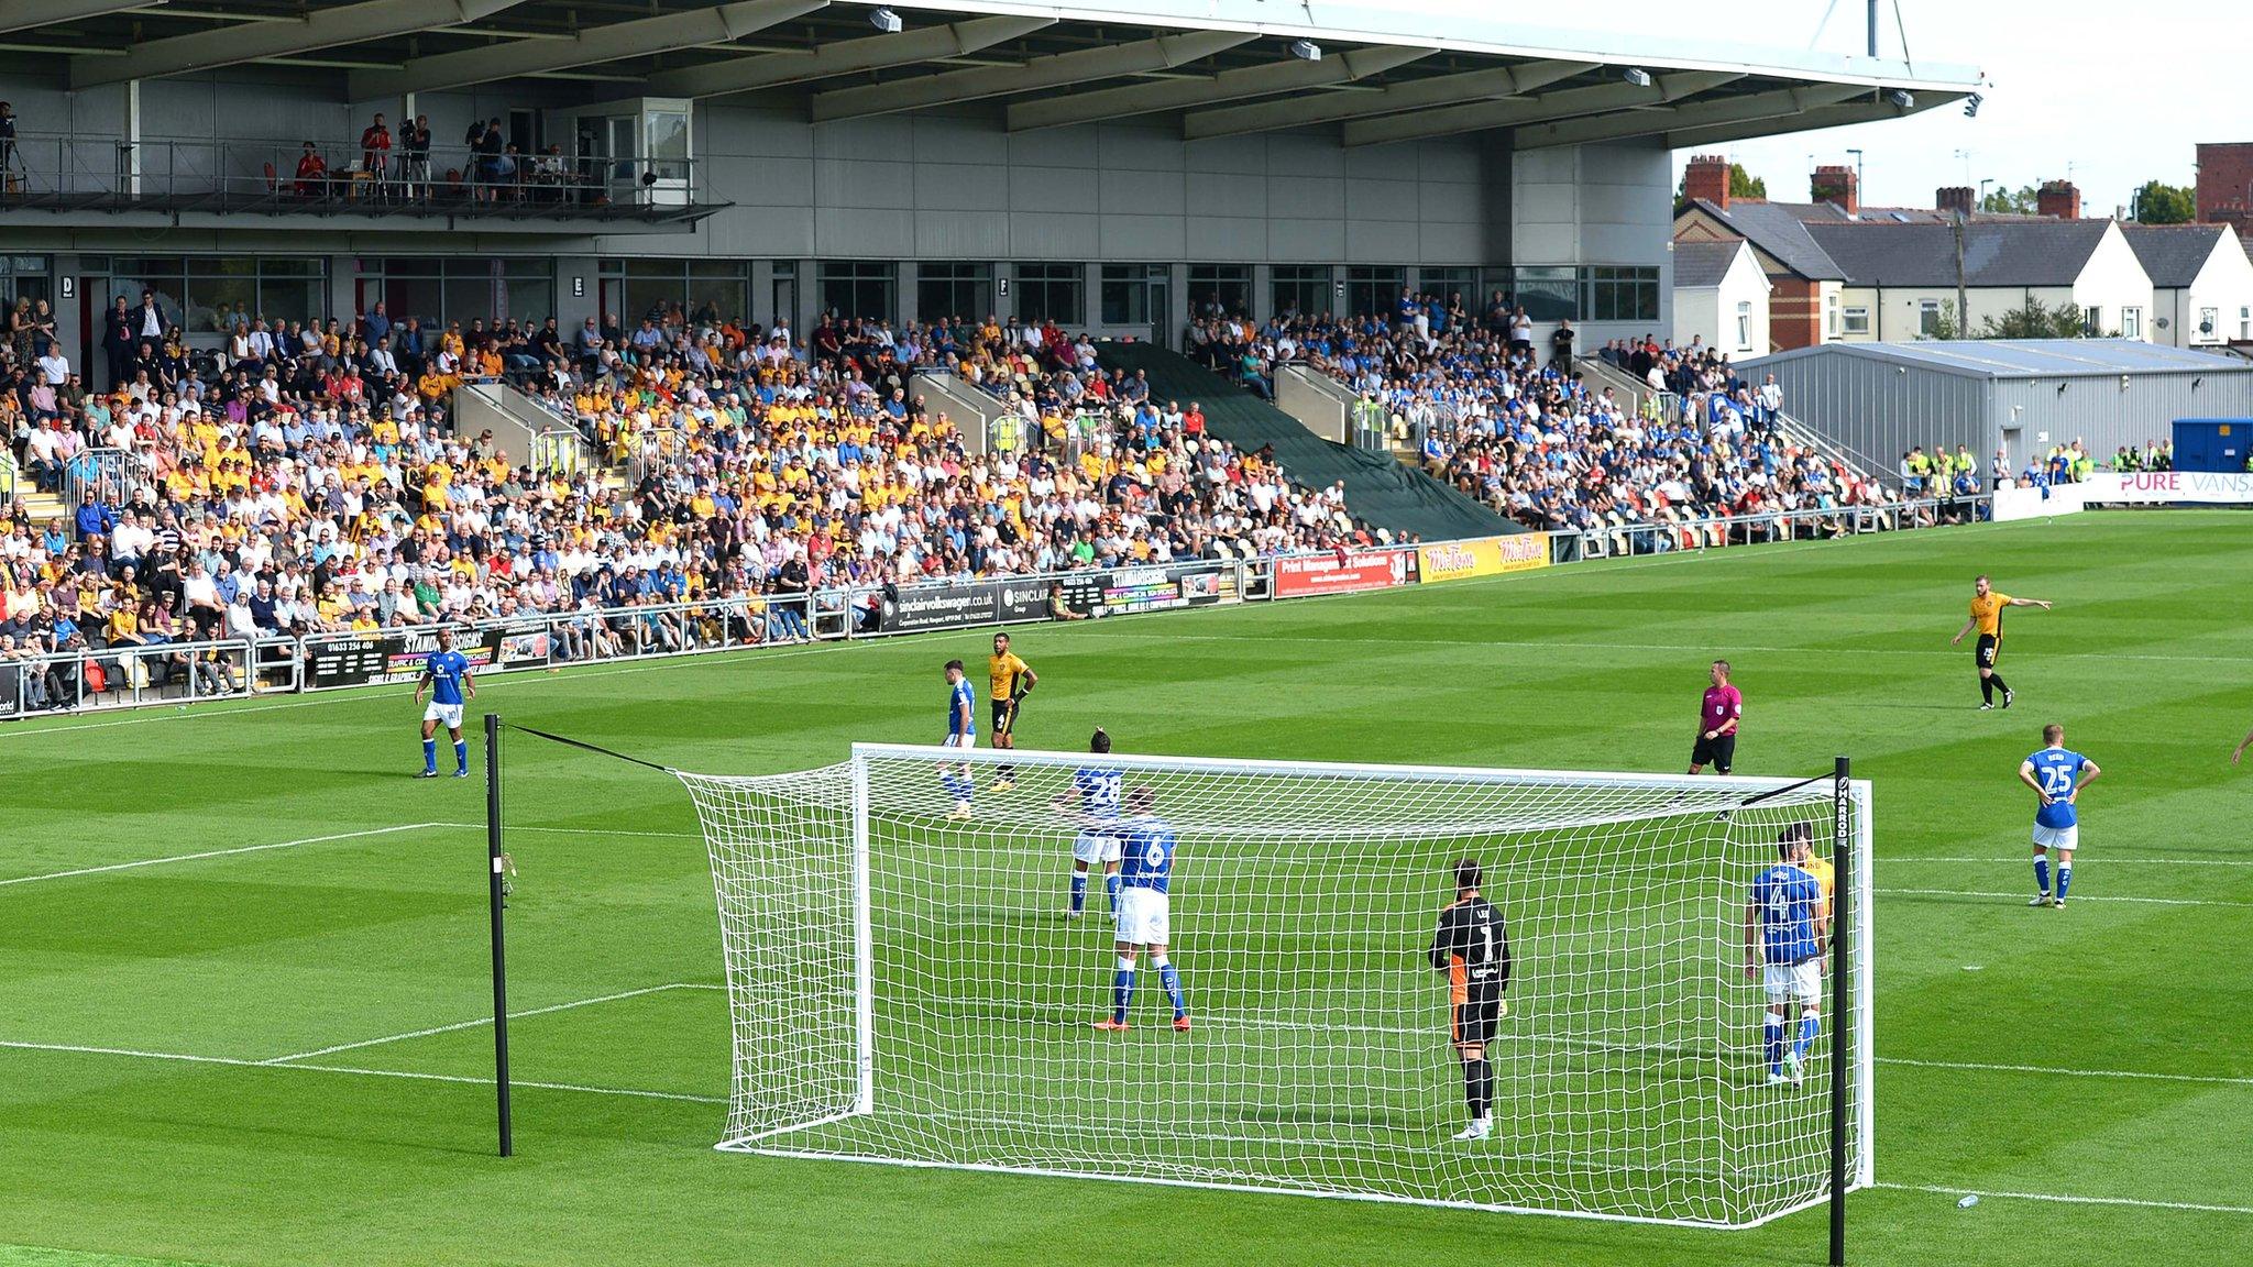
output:
[[[1965,284],[2071,286],[2111,221],[1974,221]],[[1807,234],[1856,286],[1953,286],[1956,225],[1811,223]]]

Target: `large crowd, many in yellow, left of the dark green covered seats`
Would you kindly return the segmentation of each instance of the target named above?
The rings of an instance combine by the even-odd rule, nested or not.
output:
[[[318,327],[241,318],[194,352],[158,295],[119,295],[97,383],[52,313],[14,311],[0,428],[32,487],[83,496],[54,523],[18,500],[0,528],[0,658],[83,649],[110,685],[248,690],[246,656],[180,645],[520,613],[577,613],[561,658],[798,640],[847,586],[865,609],[834,615],[874,622],[910,582],[1365,539],[1338,489],[1289,485],[1273,453],[1205,435],[1194,406],[1052,329],[825,320],[793,338],[698,316],[566,336],[374,304]],[[926,410],[912,376],[935,365],[1023,426],[980,455]],[[498,376],[604,460],[534,469],[455,433],[448,392]],[[34,701],[77,694],[34,679]]]

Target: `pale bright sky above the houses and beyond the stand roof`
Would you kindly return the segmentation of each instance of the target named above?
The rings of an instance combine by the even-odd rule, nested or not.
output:
[[[1498,0],[1408,0],[1417,9],[1494,14]],[[1692,23],[1701,38],[1742,32],[1748,47],[1859,54],[1865,0],[1604,0],[1584,9],[1604,27],[1669,29]],[[1852,162],[1863,151],[1863,201],[1929,207],[1940,185],[2039,185],[2066,178],[2082,187],[2082,214],[2111,214],[2145,180],[2194,183],[2194,144],[2253,140],[2244,104],[2244,38],[2224,38],[2237,11],[2237,36],[2253,18],[2233,5],[2174,0],[2098,5],[2093,0],[1879,0],[1881,43],[1899,56],[1895,9],[1917,61],[1987,72],[1976,119],[1940,106],[1911,119],[1818,133],[1760,138],[1730,149],[1778,198],[1805,198],[1807,171]],[[1316,2],[1316,11],[1320,5]],[[1530,11],[1534,25],[1586,25],[1566,11]],[[2237,135],[2244,133],[2244,135]],[[1967,151],[1960,153],[1960,151]],[[1676,176],[1687,153],[1676,153]]]

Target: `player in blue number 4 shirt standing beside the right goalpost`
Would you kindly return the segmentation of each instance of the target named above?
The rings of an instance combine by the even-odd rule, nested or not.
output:
[[[1807,1048],[1823,1028],[1823,960],[1829,954],[1829,902],[1823,881],[1807,870],[1809,839],[1784,832],[1775,845],[1782,861],[1753,879],[1744,904],[1744,976],[1769,992],[1762,1026],[1769,1087],[1800,1084]],[[1800,1033],[1784,1044],[1784,1012],[1800,1003]]]

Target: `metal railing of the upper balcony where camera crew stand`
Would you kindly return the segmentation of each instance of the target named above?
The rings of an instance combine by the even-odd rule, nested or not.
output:
[[[309,156],[318,167],[300,167]],[[358,142],[142,140],[27,133],[0,210],[320,212],[410,216],[622,216],[698,203],[687,158],[489,156],[394,149],[374,167]]]

